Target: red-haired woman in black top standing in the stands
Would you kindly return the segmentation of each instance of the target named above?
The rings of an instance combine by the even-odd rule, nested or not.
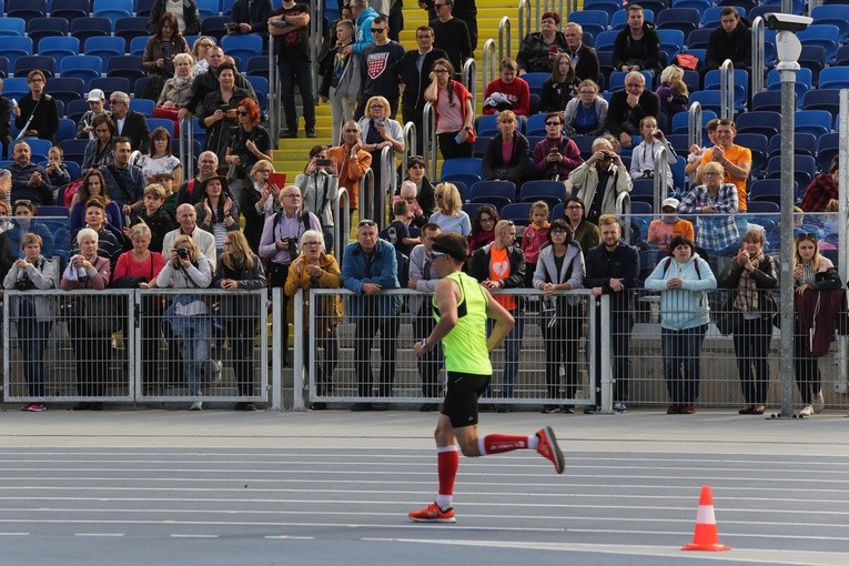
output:
[[[239,204],[246,209],[244,193],[250,183],[249,173],[260,160],[274,161],[269,131],[260,125],[262,112],[253,99],[244,98],[236,107],[237,127],[231,130],[224,161],[230,165],[230,190]]]

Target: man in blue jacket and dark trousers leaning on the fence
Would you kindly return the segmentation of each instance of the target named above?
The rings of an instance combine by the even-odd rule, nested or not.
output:
[[[372,346],[381,348],[381,374],[377,396],[392,395],[395,378],[395,352],[398,336],[400,295],[382,295],[381,291],[398,289],[397,256],[391,243],[377,237],[377,224],[361,220],[356,225],[356,242],[347,244],[342,254],[342,286],[355,293],[350,297],[348,312],[355,321],[354,373],[357,395],[371,397]],[[377,338],[377,334],[381,335]],[[352,411],[386,411],[386,403],[354,403]]]

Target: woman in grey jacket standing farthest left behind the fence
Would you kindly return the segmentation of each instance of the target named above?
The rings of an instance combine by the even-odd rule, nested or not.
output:
[[[3,279],[3,289],[28,292],[55,286],[57,266],[41,255],[41,237],[27,233],[21,241],[23,259],[17,260]],[[44,348],[55,319],[55,301],[51,296],[16,296],[9,301],[9,313],[17,320],[18,347],[23,358],[30,397],[44,396]],[[44,411],[43,403],[30,402],[23,411]]]

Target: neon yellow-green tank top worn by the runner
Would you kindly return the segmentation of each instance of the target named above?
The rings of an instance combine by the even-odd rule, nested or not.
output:
[[[442,338],[445,368],[473,375],[492,375],[493,365],[486,348],[486,294],[477,280],[463,272],[454,272],[445,279],[456,282],[461,293],[457,324]],[[433,317],[439,322],[435,297],[432,302]]]

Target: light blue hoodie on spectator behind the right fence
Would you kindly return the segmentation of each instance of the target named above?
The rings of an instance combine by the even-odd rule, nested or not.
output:
[[[684,281],[681,289],[667,289],[667,282],[675,277]],[[681,331],[710,321],[706,292],[716,289],[716,277],[708,263],[697,253],[684,264],[675,261],[675,257],[664,257],[646,280],[645,287],[648,291],[660,291],[660,326],[664,329]]]

